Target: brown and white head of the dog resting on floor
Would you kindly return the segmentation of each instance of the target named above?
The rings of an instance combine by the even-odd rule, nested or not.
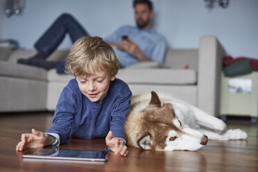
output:
[[[151,92],[148,106],[141,110],[141,128],[136,143],[144,150],[198,150],[207,143],[202,132],[186,126],[178,119],[171,103],[160,103]]]

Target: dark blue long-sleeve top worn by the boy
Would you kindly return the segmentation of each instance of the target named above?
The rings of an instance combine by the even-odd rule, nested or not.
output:
[[[72,79],[60,95],[53,126],[46,132],[58,134],[60,144],[66,144],[69,137],[105,137],[109,130],[113,137],[126,140],[123,124],[130,111],[131,96],[128,85],[116,78],[110,82],[105,98],[96,104],[80,92],[76,79]]]

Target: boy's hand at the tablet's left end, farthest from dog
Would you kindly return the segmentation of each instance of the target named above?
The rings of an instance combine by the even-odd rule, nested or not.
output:
[[[31,133],[22,134],[21,141],[16,146],[17,151],[24,148],[43,148],[51,144],[53,138],[50,135],[44,135],[43,132],[32,129]]]

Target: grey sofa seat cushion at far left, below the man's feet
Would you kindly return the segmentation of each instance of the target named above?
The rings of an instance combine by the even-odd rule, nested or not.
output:
[[[0,75],[18,78],[31,78],[35,80],[46,80],[45,69],[6,61],[0,61]]]

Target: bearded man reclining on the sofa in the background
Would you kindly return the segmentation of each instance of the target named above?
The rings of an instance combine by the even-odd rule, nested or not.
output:
[[[117,54],[121,68],[144,61],[162,63],[166,52],[166,40],[151,28],[153,4],[149,0],[134,0],[132,4],[137,26],[121,26],[105,41]],[[80,37],[89,35],[74,17],[62,14],[35,43],[37,53],[31,58],[19,59],[17,62],[47,70],[56,68],[58,74],[64,73],[65,60],[54,62],[46,59],[57,49],[67,33],[73,43]]]

